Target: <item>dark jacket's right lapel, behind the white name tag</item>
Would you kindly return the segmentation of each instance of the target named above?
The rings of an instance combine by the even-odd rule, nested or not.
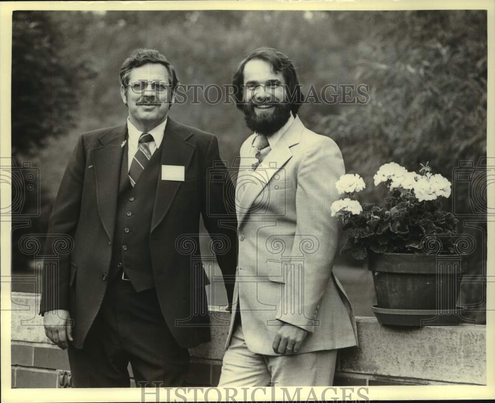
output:
[[[194,144],[186,141],[192,134],[186,126],[168,118],[163,135],[161,165],[184,166],[184,171],[187,172],[196,149]],[[181,182],[176,180],[162,180],[160,167],[150,231],[153,231],[167,214],[180,184]]]

